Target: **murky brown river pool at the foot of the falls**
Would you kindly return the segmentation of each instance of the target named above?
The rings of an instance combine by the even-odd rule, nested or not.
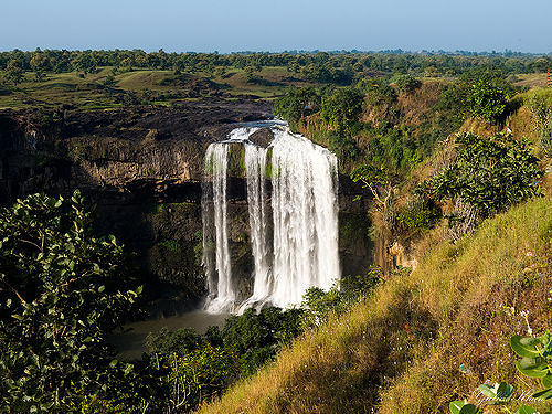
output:
[[[190,328],[198,333],[204,333],[211,326],[222,328],[229,314],[209,314],[204,310],[192,310],[168,318],[148,319],[124,326],[124,331],[115,331],[108,341],[118,350],[121,360],[139,359],[146,348],[146,337],[150,332],[159,332],[163,327],[174,331],[180,328]]]

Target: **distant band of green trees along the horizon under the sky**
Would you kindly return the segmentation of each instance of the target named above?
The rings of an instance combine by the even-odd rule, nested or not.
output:
[[[91,73],[102,66],[121,68],[170,70],[176,72],[213,72],[216,67],[284,66],[290,73],[322,83],[349,84],[367,71],[391,74],[456,76],[475,67],[492,66],[507,74],[545,72],[552,59],[532,54],[433,54],[433,53],[146,53],[124,51],[40,50],[0,52],[0,70],[22,72]]]

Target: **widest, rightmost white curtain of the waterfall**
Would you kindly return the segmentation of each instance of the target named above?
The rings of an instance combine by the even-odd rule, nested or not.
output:
[[[337,160],[305,137],[274,132],[272,302],[289,307],[311,286],[329,289],[340,274]]]

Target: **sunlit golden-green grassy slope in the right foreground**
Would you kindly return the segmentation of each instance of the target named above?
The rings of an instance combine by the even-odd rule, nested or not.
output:
[[[508,339],[527,331],[522,310],[535,333],[552,328],[551,199],[456,244],[438,243],[437,232],[410,276],[388,280],[201,412],[446,413],[486,379],[538,389],[516,373]]]

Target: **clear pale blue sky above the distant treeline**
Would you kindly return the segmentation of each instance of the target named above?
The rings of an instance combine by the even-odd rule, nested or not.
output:
[[[3,0],[0,50],[552,52],[543,0]]]

